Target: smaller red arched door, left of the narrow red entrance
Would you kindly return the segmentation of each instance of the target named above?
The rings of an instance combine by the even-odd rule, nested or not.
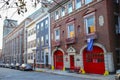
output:
[[[55,69],[63,69],[63,53],[60,50],[54,53],[54,67]]]

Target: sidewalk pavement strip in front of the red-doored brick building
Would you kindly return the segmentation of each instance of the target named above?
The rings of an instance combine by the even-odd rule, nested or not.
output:
[[[114,74],[108,75],[108,76],[99,75],[99,74],[78,74],[78,73],[70,73],[68,71],[51,70],[51,69],[44,69],[44,68],[36,68],[35,71],[47,72],[52,74],[65,75],[65,76],[80,77],[80,78],[88,78],[93,80],[115,80]]]

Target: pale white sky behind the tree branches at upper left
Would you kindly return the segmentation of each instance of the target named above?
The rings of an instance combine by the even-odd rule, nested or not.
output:
[[[15,0],[10,0],[10,1],[15,1]],[[17,20],[18,24],[20,24],[22,20],[24,20],[27,16],[31,15],[32,13],[34,13],[34,11],[40,8],[40,4],[38,4],[37,7],[34,7],[33,2],[31,2],[30,0],[26,0],[26,2],[27,2],[26,3],[27,12],[22,15],[18,15],[17,8],[1,9],[3,3],[0,2],[0,15],[1,15],[1,18],[0,18],[0,49],[2,49],[3,21],[6,18],[6,16],[8,19]],[[14,3],[11,2],[11,4],[14,6]]]

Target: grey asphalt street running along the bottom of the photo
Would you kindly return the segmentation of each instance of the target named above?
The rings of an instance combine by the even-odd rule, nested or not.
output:
[[[90,79],[55,75],[44,72],[19,71],[9,68],[0,68],[0,80],[90,80]]]

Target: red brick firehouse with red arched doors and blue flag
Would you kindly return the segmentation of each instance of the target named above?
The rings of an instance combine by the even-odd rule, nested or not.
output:
[[[114,0],[59,0],[51,15],[52,69],[104,74],[117,69]],[[115,9],[114,9],[115,7]],[[120,33],[118,33],[120,34]]]

